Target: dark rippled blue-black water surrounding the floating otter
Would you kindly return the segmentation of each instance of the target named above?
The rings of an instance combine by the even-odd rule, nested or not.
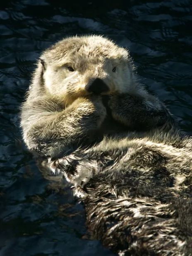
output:
[[[86,235],[83,205],[69,186],[55,191],[43,178],[22,143],[19,106],[43,49],[67,35],[104,34],[130,49],[141,82],[191,133],[191,1],[14,0],[0,6],[0,256],[112,256]]]

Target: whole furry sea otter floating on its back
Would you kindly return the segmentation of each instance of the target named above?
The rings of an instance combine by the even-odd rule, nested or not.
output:
[[[192,255],[192,138],[101,36],[46,50],[22,105],[24,141],[84,200],[92,236],[119,255]]]

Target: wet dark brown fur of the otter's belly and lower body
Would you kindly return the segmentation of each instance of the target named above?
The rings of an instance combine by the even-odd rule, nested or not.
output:
[[[191,142],[176,134],[127,139],[123,148],[106,140],[66,157],[67,168],[61,161],[71,180],[78,165],[98,165],[83,188],[92,236],[119,255],[192,255]]]

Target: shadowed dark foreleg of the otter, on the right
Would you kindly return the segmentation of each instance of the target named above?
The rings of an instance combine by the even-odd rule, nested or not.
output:
[[[111,97],[108,105],[113,118],[131,129],[168,131],[174,128],[174,119],[166,106],[147,92],[143,95],[117,94]]]

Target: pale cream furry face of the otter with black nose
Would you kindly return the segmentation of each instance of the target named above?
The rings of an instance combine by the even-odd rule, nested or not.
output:
[[[129,53],[101,36],[64,39],[41,56],[48,92],[72,103],[89,94],[127,92],[134,84]]]

